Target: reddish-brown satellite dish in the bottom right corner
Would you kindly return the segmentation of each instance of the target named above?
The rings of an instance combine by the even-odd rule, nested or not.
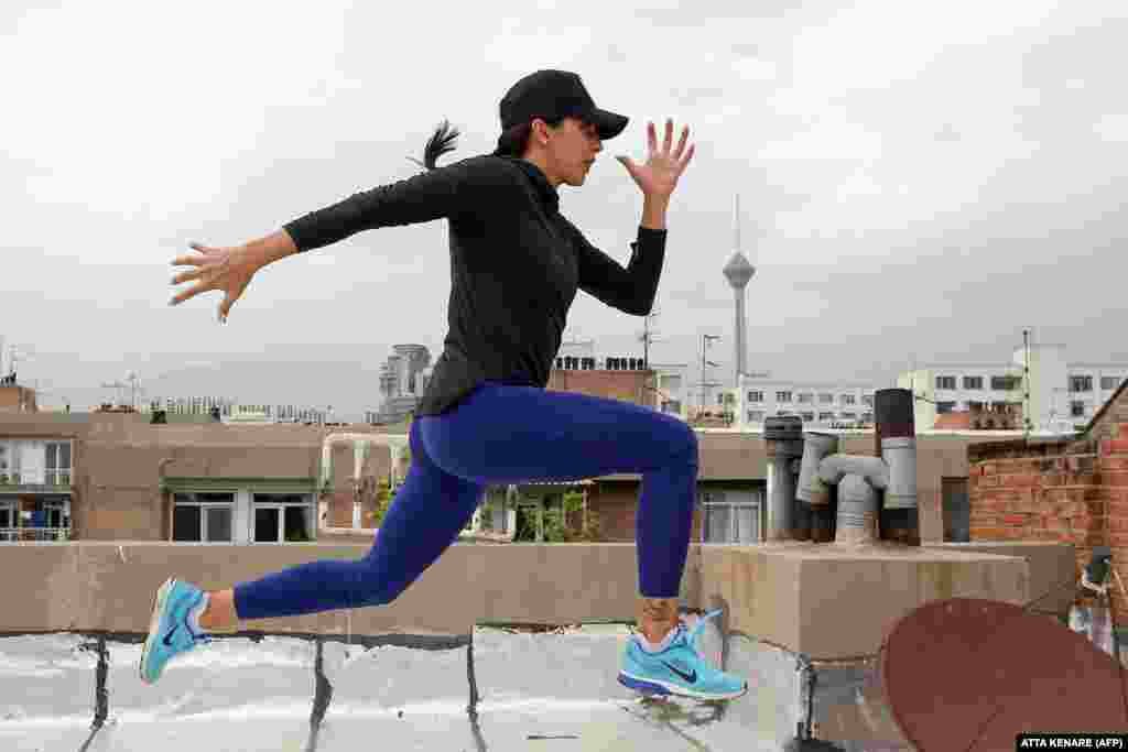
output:
[[[1012,603],[926,603],[889,631],[873,680],[918,752],[1013,750],[1021,733],[1128,731],[1120,664]]]

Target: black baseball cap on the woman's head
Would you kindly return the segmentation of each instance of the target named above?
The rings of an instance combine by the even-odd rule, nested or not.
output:
[[[622,133],[628,120],[596,107],[578,74],[557,70],[540,70],[514,83],[502,98],[499,114],[502,131],[531,123],[535,117],[575,117],[593,124],[603,141]]]

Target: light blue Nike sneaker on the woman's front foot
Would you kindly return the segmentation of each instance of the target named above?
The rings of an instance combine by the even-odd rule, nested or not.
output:
[[[731,700],[747,692],[747,681],[714,667],[697,652],[695,640],[705,620],[719,613],[706,613],[690,631],[679,623],[670,646],[661,653],[647,653],[632,636],[623,654],[619,683],[643,695],[679,695],[698,700]]]

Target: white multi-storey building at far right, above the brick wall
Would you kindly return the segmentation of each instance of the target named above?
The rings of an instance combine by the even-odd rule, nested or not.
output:
[[[1064,345],[1031,345],[1011,362],[928,363],[897,386],[916,396],[918,430],[957,410],[1021,412],[1038,432],[1072,432],[1093,418],[1128,378],[1128,363],[1070,362]]]

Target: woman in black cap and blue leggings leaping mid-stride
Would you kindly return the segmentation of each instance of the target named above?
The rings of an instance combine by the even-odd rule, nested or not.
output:
[[[617,157],[643,192],[631,262],[593,247],[558,211],[557,186],[581,186],[627,118],[596,107],[575,73],[525,77],[500,106],[492,154],[435,167],[453,149],[447,124],[428,142],[425,172],[358,193],[243,246],[209,248],[173,264],[173,284],[196,281],[170,304],[226,293],[226,321],[254,274],[273,262],[363,230],[446,219],[450,228],[449,331],[411,427],[411,470],[360,560],[320,560],[204,592],[169,578],[157,592],[141,679],[170,658],[250,619],[391,603],[458,539],[490,484],[579,480],[638,472],[638,632],[619,681],[646,693],[700,699],[743,695],[742,679],[712,666],[678,616],[697,484],[697,437],[679,418],[631,402],[547,391],[569,309],[583,290],[645,316],[666,253],[666,211],[694,154],[684,127],[671,151],[647,125],[649,158]]]

